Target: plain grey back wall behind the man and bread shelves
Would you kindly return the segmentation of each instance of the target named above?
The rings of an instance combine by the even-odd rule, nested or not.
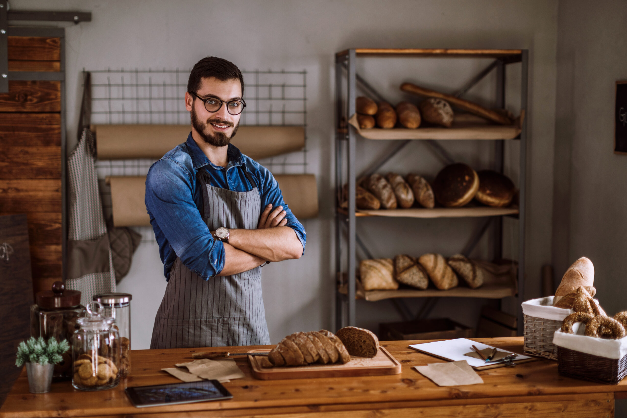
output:
[[[552,162],[556,109],[557,1],[63,1],[12,0],[14,9],[78,9],[93,21],[67,28],[68,138],[75,137],[83,68],[189,68],[206,55],[233,61],[248,70],[284,68],[308,71],[309,172],[317,175],[319,219],[306,222],[308,244],[298,261],[273,263],[263,271],[266,317],[271,340],[287,333],[332,327],[334,142],[333,60],[349,47],[529,48],[530,132],[527,298],[539,296],[540,266],[550,261]],[[359,71],[391,100],[399,100],[404,80],[454,91],[487,65],[484,61],[364,60]],[[516,110],[520,70],[508,72],[508,102]],[[494,78],[468,97],[493,103]],[[182,99],[181,99],[182,100]],[[181,142],[184,138],[181,138]],[[366,165],[385,144],[362,144]],[[456,158],[476,169],[490,164],[487,144],[447,142]],[[517,145],[508,147],[508,173],[517,179]],[[441,167],[415,143],[385,170],[413,170],[433,177]],[[376,256],[460,251],[477,220],[364,221],[364,240]],[[386,227],[386,229],[381,229]],[[516,254],[515,221],[505,225],[505,254]],[[385,231],[391,231],[386,234]],[[475,256],[488,256],[482,242]],[[142,246],[120,291],[133,293],[134,348],[147,348],[154,313],[165,288],[154,246]],[[415,303],[415,302],[414,302]],[[474,326],[485,301],[442,301],[433,317],[450,316]],[[510,301],[510,308],[514,305]],[[387,301],[359,303],[359,322],[376,330],[379,321],[398,320]]]

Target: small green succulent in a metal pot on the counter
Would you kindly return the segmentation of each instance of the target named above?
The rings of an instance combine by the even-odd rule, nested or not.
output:
[[[48,342],[43,337],[31,337],[19,343],[15,365],[22,367],[26,363],[31,394],[50,392],[55,364],[63,361],[62,355],[68,350],[70,345],[66,340],[58,342],[54,337]]]

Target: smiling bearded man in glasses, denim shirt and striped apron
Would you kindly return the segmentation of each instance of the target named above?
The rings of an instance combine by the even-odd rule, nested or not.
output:
[[[305,229],[273,175],[230,144],[246,107],[233,63],[189,75],[186,142],[150,167],[145,204],[167,288],[150,348],[270,344],[261,265],[304,253]]]

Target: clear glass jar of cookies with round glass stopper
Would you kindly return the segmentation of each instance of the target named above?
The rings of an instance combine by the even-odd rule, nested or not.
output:
[[[113,318],[100,316],[98,302],[87,305],[88,316],[78,318],[72,337],[72,385],[80,390],[105,390],[120,382],[119,333]]]

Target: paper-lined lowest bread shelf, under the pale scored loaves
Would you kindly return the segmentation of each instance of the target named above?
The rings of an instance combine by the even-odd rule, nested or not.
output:
[[[357,286],[357,288],[361,288]],[[342,295],[347,294],[347,286],[338,286],[338,291]],[[377,301],[391,298],[484,298],[484,299],[500,299],[508,296],[516,296],[516,288],[513,285],[490,284],[483,285],[478,289],[456,287],[450,290],[362,290],[356,291],[356,299],[365,299],[367,301]]]

